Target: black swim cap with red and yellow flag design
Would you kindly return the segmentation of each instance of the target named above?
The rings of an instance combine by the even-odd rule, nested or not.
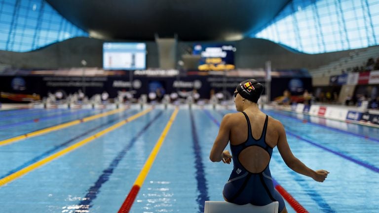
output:
[[[242,98],[258,103],[258,99],[264,90],[264,86],[255,79],[247,79],[238,84],[236,88]]]

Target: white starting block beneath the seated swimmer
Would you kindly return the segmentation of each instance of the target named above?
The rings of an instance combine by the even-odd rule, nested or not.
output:
[[[279,202],[265,206],[237,205],[226,201],[205,201],[204,213],[278,213]]]

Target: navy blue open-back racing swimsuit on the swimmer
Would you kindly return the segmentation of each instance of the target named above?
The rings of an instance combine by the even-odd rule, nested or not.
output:
[[[238,145],[230,144],[230,150],[233,159],[233,171],[231,171],[229,180],[224,186],[224,197],[230,203],[245,205],[251,203],[255,206],[265,206],[273,201],[279,202],[279,212],[284,209],[284,200],[282,196],[275,190],[272,183],[269,164],[265,170],[260,173],[251,173],[245,169],[238,160],[238,156],[242,150],[249,146],[260,146],[272,155],[272,148],[265,142],[268,116],[266,115],[265,125],[261,138],[255,140],[251,133],[251,125],[249,117],[242,112],[247,120],[248,137],[247,140]]]

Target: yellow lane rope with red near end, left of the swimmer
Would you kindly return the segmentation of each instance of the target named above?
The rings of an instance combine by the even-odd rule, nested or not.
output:
[[[138,175],[136,181],[134,182],[132,188],[130,189],[130,192],[128,196],[126,197],[124,203],[122,204],[120,210],[118,210],[118,213],[128,213],[130,209],[132,208],[133,202],[137,197],[137,194],[142,187],[142,184],[145,181],[146,176],[149,174],[150,168],[152,167],[152,164],[154,163],[154,160],[156,158],[156,155],[159,152],[160,147],[163,144],[164,139],[166,138],[166,135],[168,131],[171,128],[172,123],[175,120],[176,115],[178,114],[179,109],[176,108],[174,112],[172,113],[170,120],[166,124],[166,127],[164,128],[162,134],[160,135],[158,141],[156,142],[154,148],[152,149],[152,152],[149,155],[149,158],[146,160],[144,167],[142,168],[140,174]]]

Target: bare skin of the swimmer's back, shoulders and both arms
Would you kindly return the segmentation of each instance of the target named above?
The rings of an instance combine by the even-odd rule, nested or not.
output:
[[[261,110],[259,110],[258,107],[252,109],[245,109],[244,112],[249,117],[253,138],[259,139],[262,135],[262,130],[265,125],[265,114]],[[228,129],[228,131],[224,129]],[[219,135],[215,141],[216,145],[212,147],[211,156],[218,155],[212,154],[213,152],[221,153],[222,150],[224,150],[224,148],[226,147],[227,141],[230,141],[232,145],[237,145],[245,142],[246,139],[247,122],[244,118],[243,113],[236,112],[227,114],[226,116],[224,116],[223,122],[221,122]],[[220,145],[217,145],[219,141]],[[311,177],[318,182],[324,182],[324,180],[327,178],[329,174],[328,171],[313,171],[312,169],[305,166],[303,162],[301,162],[298,158],[294,156],[287,142],[286,132],[284,130],[283,124],[280,121],[273,119],[272,117],[268,117],[265,143],[272,148],[276,145],[284,162],[293,171],[304,176]],[[240,153],[239,160],[241,164],[249,172],[259,173],[263,171],[267,166],[269,162],[269,156],[263,148],[251,147],[247,148],[246,150],[243,150],[243,152]],[[228,161],[227,158],[223,159],[223,161],[227,161],[228,163],[230,163],[230,161]]]

